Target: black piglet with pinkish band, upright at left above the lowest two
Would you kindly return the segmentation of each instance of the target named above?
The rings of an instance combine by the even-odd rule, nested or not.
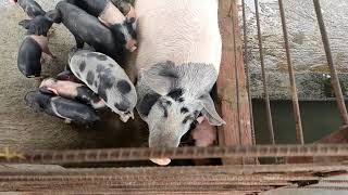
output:
[[[25,77],[39,77],[41,74],[42,52],[54,57],[48,48],[47,32],[52,26],[52,21],[46,16],[36,16],[25,24],[28,28],[17,56],[17,66]],[[37,31],[41,35],[37,35]]]

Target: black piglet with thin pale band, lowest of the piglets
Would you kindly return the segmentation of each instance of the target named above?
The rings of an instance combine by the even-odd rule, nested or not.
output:
[[[92,107],[57,96],[46,90],[28,92],[25,102],[35,110],[65,119],[66,122],[88,125],[100,119]]]

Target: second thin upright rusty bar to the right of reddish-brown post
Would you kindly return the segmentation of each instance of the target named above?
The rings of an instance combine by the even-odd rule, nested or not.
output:
[[[265,68],[264,68],[262,35],[261,35],[259,1],[258,0],[254,0],[254,9],[256,9],[256,18],[257,18],[257,26],[258,26],[259,52],[260,52],[260,61],[261,61],[263,91],[264,91],[264,99],[265,99],[268,129],[270,131],[271,143],[275,144],[273,122],[272,122],[271,103],[270,103],[270,95],[269,95],[269,87],[268,87],[268,82],[266,82],[268,78],[266,78]]]

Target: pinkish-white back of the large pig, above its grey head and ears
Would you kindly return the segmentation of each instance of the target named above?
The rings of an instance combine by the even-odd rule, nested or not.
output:
[[[217,0],[137,0],[138,69],[165,61],[212,64],[219,73]]]

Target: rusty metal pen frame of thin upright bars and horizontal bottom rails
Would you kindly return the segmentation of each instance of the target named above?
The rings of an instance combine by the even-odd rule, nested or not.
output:
[[[309,157],[309,158],[330,158],[330,162],[315,164],[279,164],[279,165],[233,165],[233,166],[208,166],[208,167],[167,167],[167,168],[114,168],[114,169],[64,169],[59,171],[21,171],[21,170],[0,170],[0,191],[23,191],[23,192],[104,192],[109,193],[132,193],[132,194],[184,194],[184,193],[259,193],[275,187],[285,186],[297,188],[300,183],[313,184],[324,183],[348,183],[348,181],[323,180],[323,176],[333,172],[347,173],[348,164],[348,141],[345,136],[348,127],[348,114],[340,89],[336,68],[333,63],[332,52],[324,18],[321,12],[320,0],[313,0],[319,27],[327,57],[327,65],[331,70],[332,86],[336,94],[337,106],[343,120],[340,131],[324,138],[316,144],[304,144],[303,130],[301,125],[300,106],[297,95],[295,69],[293,67],[290,49],[288,43],[288,32],[286,26],[285,8],[283,0],[278,0],[279,15],[284,34],[284,46],[288,64],[290,79],[290,95],[296,122],[296,138],[298,145],[276,145],[272,122],[271,102],[268,88],[268,76],[264,65],[264,54],[262,46],[262,31],[260,25],[259,0],[254,0],[256,21],[259,41],[259,54],[262,72],[264,100],[266,105],[268,129],[270,133],[270,145],[257,145],[253,127],[252,102],[250,93],[250,76],[248,57],[248,35],[246,22],[245,0],[243,3],[243,24],[244,24],[244,63],[246,66],[246,82],[248,92],[248,104],[250,110],[251,139],[253,145],[243,145],[243,138],[238,138],[240,145],[224,143],[221,147],[179,147],[179,148],[112,148],[112,150],[78,150],[78,151],[12,151],[5,148],[0,151],[0,165],[12,164],[42,164],[42,165],[64,165],[80,162],[113,162],[130,160],[148,160],[149,158],[171,157],[172,159],[201,159],[201,158],[232,158],[248,159],[262,157]],[[232,8],[234,6],[234,8]],[[236,10],[236,2],[232,0],[231,11]],[[236,14],[234,15],[233,28],[236,28]],[[227,20],[226,20],[227,21]],[[234,49],[238,50],[236,42],[239,34],[238,29],[233,29]],[[232,51],[229,52],[239,52]],[[238,56],[237,56],[238,55]],[[234,56],[235,64],[240,63]],[[240,57],[239,57],[240,58]],[[237,62],[238,61],[238,62]],[[227,63],[228,64],[228,63]],[[243,65],[238,64],[238,65]],[[231,67],[229,67],[231,68]],[[234,67],[234,75],[237,88],[237,99],[239,100],[240,67]],[[237,102],[239,106],[239,102]],[[239,112],[240,107],[238,107]],[[238,118],[240,113],[238,113]],[[249,115],[249,113],[247,113]],[[248,118],[246,117],[246,118]],[[241,136],[241,121],[238,120],[239,136]],[[231,132],[227,132],[231,133]],[[332,144],[321,144],[332,143]],[[233,146],[232,146],[233,145]],[[277,161],[279,162],[279,161]],[[85,186],[87,185],[87,186]],[[330,186],[332,187],[332,186]],[[48,190],[49,188],[49,190]],[[325,188],[321,186],[308,185],[303,188]],[[335,188],[335,187],[334,187]],[[348,191],[347,187],[336,187],[336,190]]]

